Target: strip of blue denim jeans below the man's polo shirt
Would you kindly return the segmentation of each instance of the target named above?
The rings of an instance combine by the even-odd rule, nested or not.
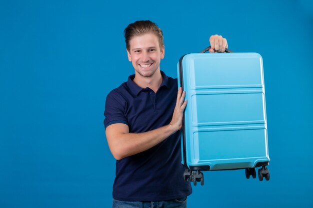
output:
[[[125,202],[113,199],[112,208],[187,208],[187,197],[160,202]]]

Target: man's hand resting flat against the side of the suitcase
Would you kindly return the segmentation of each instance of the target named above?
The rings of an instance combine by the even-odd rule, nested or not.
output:
[[[178,131],[182,127],[183,110],[187,105],[187,100],[184,100],[185,94],[185,91],[182,91],[181,87],[179,87],[173,117],[169,123],[169,126],[172,127],[174,131]]]

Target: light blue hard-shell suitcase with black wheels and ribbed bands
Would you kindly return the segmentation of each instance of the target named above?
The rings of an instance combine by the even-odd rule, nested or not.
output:
[[[185,181],[201,171],[245,169],[269,180],[265,91],[258,53],[191,53],[177,64],[178,87],[188,100],[181,134]]]

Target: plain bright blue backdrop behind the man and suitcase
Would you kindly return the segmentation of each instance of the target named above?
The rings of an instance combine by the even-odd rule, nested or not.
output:
[[[204,173],[188,207],[313,207],[313,6],[309,0],[0,2],[0,207],[107,208],[115,160],[107,93],[127,80],[123,29],[164,33],[161,70],[221,34],[263,57],[270,181]]]

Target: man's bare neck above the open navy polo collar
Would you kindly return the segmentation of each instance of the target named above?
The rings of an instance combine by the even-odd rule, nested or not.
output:
[[[133,79],[133,82],[141,88],[148,87],[156,93],[162,83],[162,80],[163,78],[161,72],[158,70],[150,77],[144,77],[135,72],[135,78]]]

